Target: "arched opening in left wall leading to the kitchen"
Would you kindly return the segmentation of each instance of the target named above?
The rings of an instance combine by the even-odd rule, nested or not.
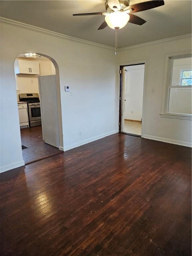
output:
[[[20,54],[14,65],[25,164],[63,152],[59,69],[50,57],[33,54]]]

